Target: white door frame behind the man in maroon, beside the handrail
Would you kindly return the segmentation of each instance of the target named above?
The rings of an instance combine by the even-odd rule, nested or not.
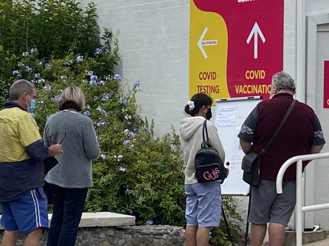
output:
[[[315,111],[316,93],[316,43],[317,25],[329,23],[329,13],[306,17],[306,103]],[[314,204],[314,169],[307,167],[305,172],[305,205]],[[313,212],[305,213],[304,228],[312,227]]]

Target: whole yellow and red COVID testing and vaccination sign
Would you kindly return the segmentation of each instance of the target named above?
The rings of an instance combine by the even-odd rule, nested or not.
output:
[[[283,0],[190,0],[190,96],[262,95],[282,70]]]

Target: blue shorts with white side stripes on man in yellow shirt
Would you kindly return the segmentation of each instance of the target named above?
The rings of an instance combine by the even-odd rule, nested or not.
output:
[[[47,197],[42,187],[26,191],[20,198],[1,202],[1,225],[8,231],[27,234],[38,227],[48,228]]]

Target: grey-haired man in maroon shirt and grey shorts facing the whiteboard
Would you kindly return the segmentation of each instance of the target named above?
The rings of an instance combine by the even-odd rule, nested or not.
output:
[[[260,153],[292,103],[296,86],[286,72],[272,77],[269,101],[259,103],[241,126],[238,137],[245,154]],[[285,227],[296,203],[296,165],[283,177],[283,193],[277,194],[275,180],[281,165],[289,158],[319,153],[325,143],[320,122],[306,104],[296,101],[292,112],[261,159],[260,186],[252,186],[251,245],[261,246],[269,223],[270,246],[281,246]],[[303,169],[307,163],[304,163]]]

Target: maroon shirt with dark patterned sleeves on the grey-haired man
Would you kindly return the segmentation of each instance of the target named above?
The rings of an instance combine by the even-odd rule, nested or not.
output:
[[[271,100],[259,103],[241,126],[238,137],[252,142],[252,151],[260,153],[271,138],[293,96],[278,93]],[[291,157],[310,154],[312,145],[324,144],[320,122],[314,111],[306,104],[296,104],[277,134],[266,154],[261,159],[261,178],[276,180],[282,164]],[[303,162],[304,167],[308,162]],[[296,179],[296,164],[291,165],[283,180]]]

